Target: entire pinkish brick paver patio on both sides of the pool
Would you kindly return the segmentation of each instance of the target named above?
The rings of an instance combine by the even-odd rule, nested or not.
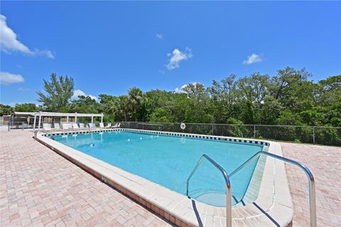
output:
[[[1,226],[171,226],[31,138],[0,133]],[[316,181],[318,226],[341,226],[341,148],[281,143]],[[308,182],[286,165],[293,226],[309,226]]]

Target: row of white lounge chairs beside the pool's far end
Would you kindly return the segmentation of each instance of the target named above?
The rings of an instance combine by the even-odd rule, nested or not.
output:
[[[50,123],[43,123],[43,131],[78,131],[78,130],[86,130],[92,131],[96,130],[97,127],[94,123],[62,123],[60,128],[59,123],[53,123],[54,128],[51,128]],[[108,123],[107,126],[104,126],[104,123],[99,123],[99,128],[119,128],[121,123],[116,123],[112,126],[112,123]]]

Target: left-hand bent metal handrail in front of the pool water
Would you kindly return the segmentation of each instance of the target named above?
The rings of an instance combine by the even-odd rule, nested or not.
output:
[[[232,199],[231,199],[231,183],[229,182],[229,175],[227,175],[227,172],[224,170],[223,167],[221,167],[215,160],[212,160],[208,155],[202,155],[200,157],[200,160],[197,161],[197,165],[195,165],[193,171],[190,173],[190,176],[187,179],[187,196],[188,196],[188,185],[190,183],[190,178],[193,176],[194,172],[197,170],[197,168],[200,166],[202,161],[206,158],[210,163],[212,163],[215,167],[217,167],[220,172],[222,172],[222,176],[225,179],[226,183],[226,226],[231,227],[232,226]],[[190,196],[188,196],[190,198]]]

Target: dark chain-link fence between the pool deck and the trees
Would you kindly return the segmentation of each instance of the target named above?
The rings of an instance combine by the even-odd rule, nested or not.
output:
[[[180,124],[181,123],[148,123],[129,121],[121,122],[121,128],[171,131],[177,133],[195,133],[204,135],[223,135],[239,138],[259,138],[266,140],[312,143],[341,147],[340,127],[185,123],[185,129],[181,129]]]

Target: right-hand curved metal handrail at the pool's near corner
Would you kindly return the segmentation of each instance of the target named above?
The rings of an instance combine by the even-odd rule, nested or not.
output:
[[[244,166],[248,165],[252,160],[256,159],[260,155],[268,155],[270,157],[274,157],[278,160],[282,160],[283,162],[288,162],[290,164],[296,165],[300,167],[304,172],[305,175],[307,175],[309,180],[309,206],[310,206],[310,226],[316,227],[316,194],[315,194],[315,179],[313,174],[310,172],[310,170],[305,167],[305,165],[301,164],[300,162],[296,162],[295,160],[288,159],[286,157],[274,155],[272,153],[267,153],[265,151],[259,151],[258,153],[254,154],[252,157],[249,158],[246,162],[244,162],[242,165],[239,165],[236,170],[231,172],[229,174],[229,177],[232,177],[236,172],[241,170]]]

